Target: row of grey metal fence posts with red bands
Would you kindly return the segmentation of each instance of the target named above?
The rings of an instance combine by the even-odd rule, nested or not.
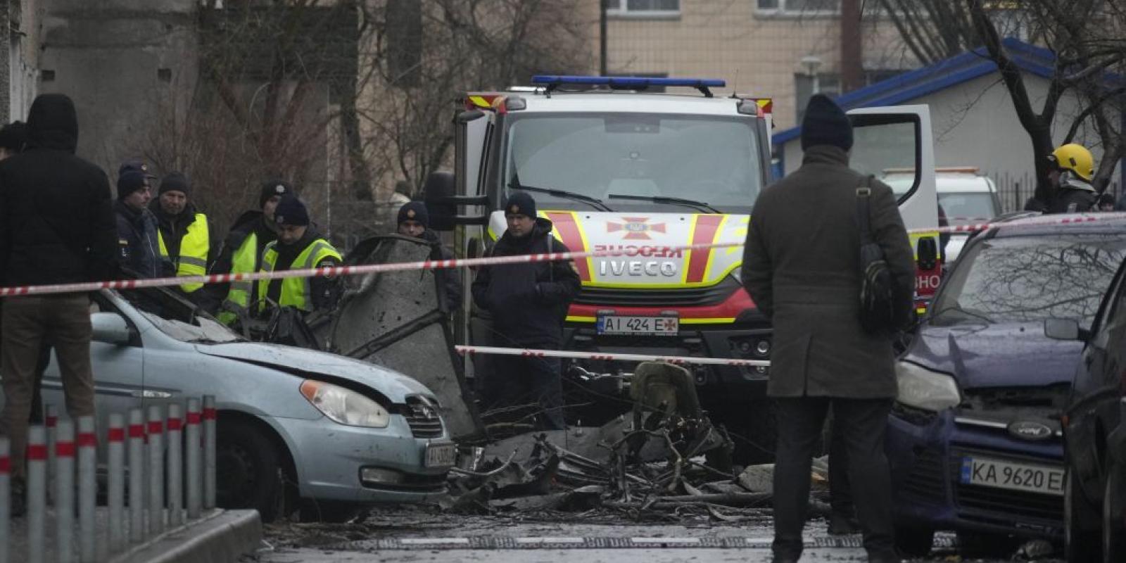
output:
[[[100,439],[93,417],[60,420],[53,405],[45,413],[46,423],[28,431],[27,526],[21,528],[27,534],[27,563],[46,561],[48,506],[54,509],[51,539],[59,563],[125,553],[215,507],[214,396],[205,395],[202,408],[199,399],[188,399],[186,409],[180,403],[150,405],[148,417],[142,409],[128,411],[127,419],[111,413]],[[108,467],[105,537],[96,521],[99,445]],[[0,563],[12,556],[9,454],[8,438],[0,438]]]

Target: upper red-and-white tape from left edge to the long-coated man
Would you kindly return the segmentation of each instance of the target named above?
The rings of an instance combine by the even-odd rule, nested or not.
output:
[[[669,247],[670,252],[711,250],[718,248],[742,247],[742,242],[722,244],[689,244]],[[441,268],[470,268],[475,266],[495,266],[501,263],[552,262],[573,260],[577,258],[602,258],[617,256],[617,250],[589,250],[582,252],[548,252],[543,254],[501,256],[490,258],[455,258],[452,260],[423,260],[421,262],[367,263],[361,266],[327,266],[285,271],[258,271],[253,274],[211,274],[206,276],[182,276],[152,279],[117,279],[111,282],[87,282],[80,284],[36,285],[20,287],[0,287],[0,297],[14,295],[46,295],[54,293],[97,292],[99,289],[137,289],[142,287],[171,287],[181,284],[226,284],[230,282],[253,282],[259,279],[285,279],[303,277],[358,276],[381,271],[430,270]]]

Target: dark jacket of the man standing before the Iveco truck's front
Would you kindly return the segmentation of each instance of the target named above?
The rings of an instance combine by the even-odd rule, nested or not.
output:
[[[552,222],[537,218],[531,233],[521,239],[506,232],[492,256],[569,252],[553,241]],[[579,294],[579,274],[569,261],[486,266],[473,280],[473,301],[492,313],[493,328],[502,337],[499,346],[552,346],[563,339],[563,322],[571,301]]]

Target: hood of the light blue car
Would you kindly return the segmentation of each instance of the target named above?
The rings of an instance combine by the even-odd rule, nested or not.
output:
[[[200,345],[196,349],[208,356],[275,367],[302,377],[316,378],[321,375],[348,379],[366,385],[396,403],[403,403],[408,395],[435,396],[425,385],[399,372],[336,354],[260,342]]]

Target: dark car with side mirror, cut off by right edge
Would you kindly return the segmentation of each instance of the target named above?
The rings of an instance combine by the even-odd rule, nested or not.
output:
[[[1126,561],[1126,263],[1090,332],[1057,323],[1049,333],[1085,340],[1064,417],[1067,561]]]

